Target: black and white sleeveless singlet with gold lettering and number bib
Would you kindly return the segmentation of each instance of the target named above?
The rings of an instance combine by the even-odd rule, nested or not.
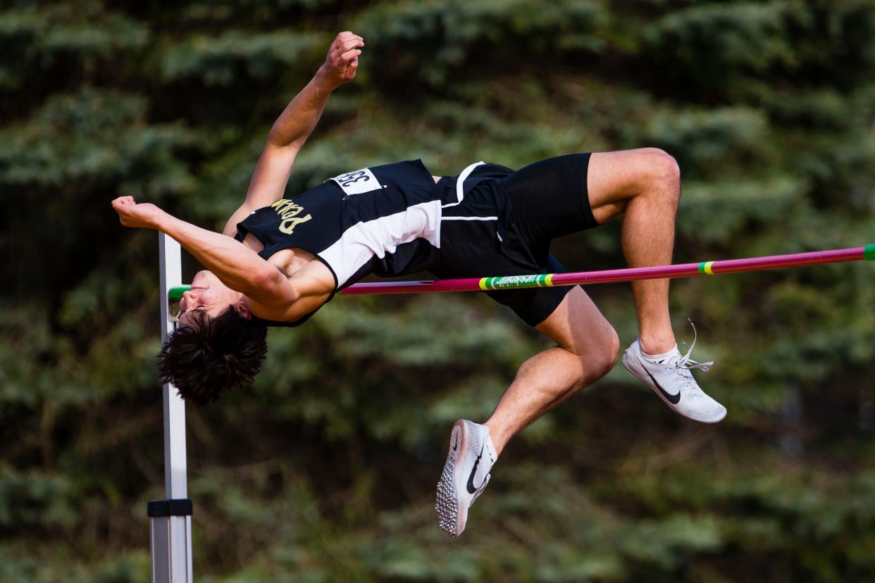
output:
[[[368,274],[437,274],[442,271],[442,219],[484,220],[494,232],[496,208],[473,217],[459,211],[465,191],[511,171],[475,163],[451,184],[446,179],[435,184],[420,160],[346,172],[252,212],[237,224],[235,239],[252,233],[264,246],[258,254],[265,260],[290,247],[312,253],[331,270],[335,293]],[[309,316],[271,324],[293,326]]]

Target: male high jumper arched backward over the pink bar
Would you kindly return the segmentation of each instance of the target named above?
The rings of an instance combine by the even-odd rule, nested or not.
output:
[[[339,289],[367,274],[427,270],[437,277],[555,271],[550,240],[623,215],[631,267],[667,265],[675,238],[680,175],[671,156],[644,148],[570,154],[521,170],[472,163],[433,177],[419,160],[341,174],[283,198],[297,152],[336,88],[353,80],[364,40],[334,39],[325,64],[270,129],[246,199],[213,233],[132,197],[112,205],[122,224],[158,229],[207,267],[183,296],[179,329],[159,371],[198,405],[251,382],[264,359],[266,326],[303,323]],[[690,373],[669,319],[669,281],[634,281],[639,337],[623,364],[676,413],[716,423],[726,410]],[[485,423],[458,420],[437,484],[437,516],[451,537],[486,488],[507,441],[523,427],[606,375],[620,341],[584,290],[486,292],[556,346],[528,358]],[[694,342],[695,344],[695,342]],[[707,370],[707,369],[705,369]]]

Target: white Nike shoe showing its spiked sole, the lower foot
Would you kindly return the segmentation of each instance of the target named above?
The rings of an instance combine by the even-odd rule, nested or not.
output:
[[[468,508],[489,483],[495,453],[489,427],[460,419],[452,426],[450,453],[437,482],[437,523],[452,538],[465,530]]]

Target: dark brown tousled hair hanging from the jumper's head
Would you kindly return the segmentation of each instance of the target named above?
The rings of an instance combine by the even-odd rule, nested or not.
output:
[[[158,354],[158,375],[197,406],[252,382],[268,351],[267,327],[233,308],[211,318],[195,312],[167,338]]]

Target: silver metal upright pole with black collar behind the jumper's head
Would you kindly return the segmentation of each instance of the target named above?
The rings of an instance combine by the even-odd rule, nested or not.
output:
[[[182,259],[179,243],[158,233],[161,262],[161,342],[176,330],[167,292],[182,283]],[[186,464],[186,404],[176,394],[176,387],[164,385],[165,424],[165,500],[151,500],[148,514],[151,523],[153,583],[193,583],[192,574],[192,501],[188,498]]]

